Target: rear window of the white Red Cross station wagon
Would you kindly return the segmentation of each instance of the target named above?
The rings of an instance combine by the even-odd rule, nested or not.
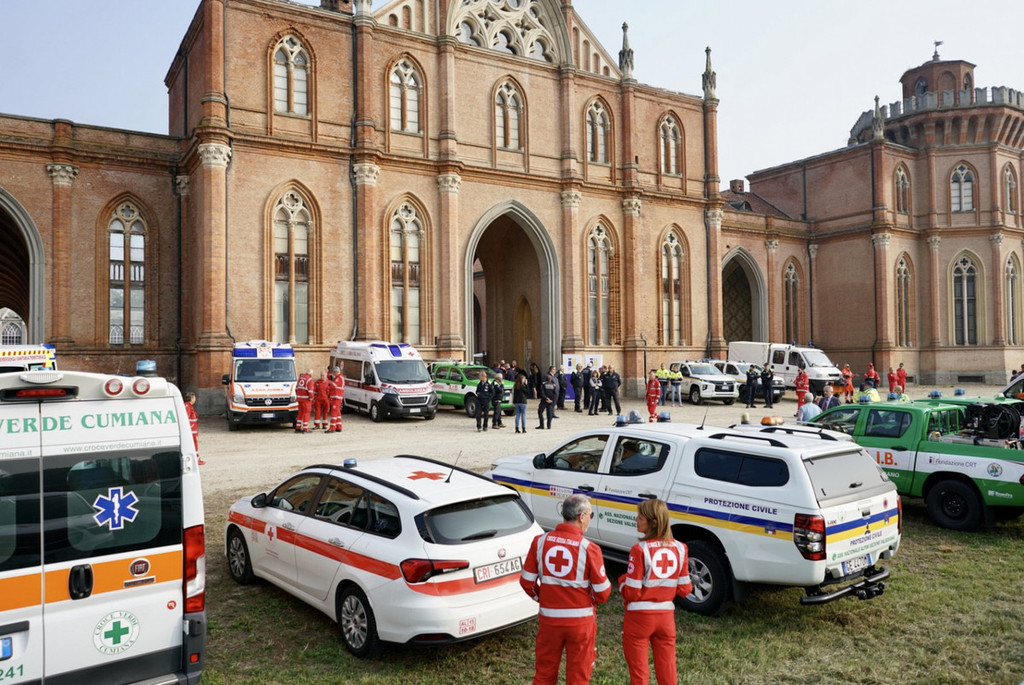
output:
[[[534,515],[517,495],[456,502],[416,517],[420,537],[437,545],[462,545],[526,530]]]

